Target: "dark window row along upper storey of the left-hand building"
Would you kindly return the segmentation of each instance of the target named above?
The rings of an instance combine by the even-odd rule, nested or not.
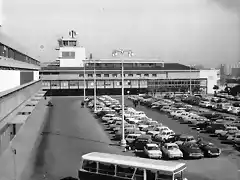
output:
[[[40,66],[40,62],[0,43],[0,56]]]

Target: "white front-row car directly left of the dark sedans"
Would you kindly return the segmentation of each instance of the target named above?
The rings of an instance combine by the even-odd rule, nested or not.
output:
[[[162,147],[163,156],[168,159],[182,158],[183,153],[176,143],[166,143]]]

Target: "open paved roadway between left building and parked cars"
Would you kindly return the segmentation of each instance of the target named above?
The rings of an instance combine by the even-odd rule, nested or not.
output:
[[[54,97],[54,107],[45,127],[31,180],[76,176],[81,156],[100,151],[120,153],[87,108],[80,108],[81,98]]]

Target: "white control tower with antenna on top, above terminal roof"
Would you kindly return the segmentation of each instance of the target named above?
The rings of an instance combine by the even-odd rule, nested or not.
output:
[[[59,55],[57,61],[60,67],[83,67],[83,60],[86,59],[86,50],[78,44],[75,31],[69,32],[68,38],[58,39]]]

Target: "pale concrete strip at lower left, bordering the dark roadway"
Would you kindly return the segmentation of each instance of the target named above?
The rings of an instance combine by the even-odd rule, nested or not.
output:
[[[34,159],[42,138],[40,134],[48,119],[48,113],[46,100],[42,99],[11,142],[11,146],[16,149],[16,155],[14,156],[9,146],[0,157],[1,180],[14,179],[13,158],[15,158],[16,162],[16,179],[26,180],[30,178],[34,168]]]

